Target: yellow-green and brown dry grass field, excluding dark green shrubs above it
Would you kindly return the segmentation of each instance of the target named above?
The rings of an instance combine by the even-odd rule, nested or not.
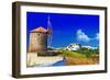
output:
[[[79,54],[70,50],[62,50],[63,56],[65,56],[66,65],[97,65],[99,64],[99,55],[90,55],[87,57],[84,54]]]

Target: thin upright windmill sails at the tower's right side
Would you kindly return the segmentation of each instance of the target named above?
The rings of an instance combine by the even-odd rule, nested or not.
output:
[[[50,15],[47,18],[47,30],[50,31],[50,34],[48,34],[48,38],[47,38],[47,46],[48,47],[52,47],[52,34],[53,34],[53,31],[52,31],[52,23],[51,23],[51,20],[50,20]]]

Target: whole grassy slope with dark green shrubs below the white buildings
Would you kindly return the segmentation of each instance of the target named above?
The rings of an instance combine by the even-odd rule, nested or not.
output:
[[[67,66],[70,65],[96,65],[99,64],[98,49],[59,50],[65,57]]]

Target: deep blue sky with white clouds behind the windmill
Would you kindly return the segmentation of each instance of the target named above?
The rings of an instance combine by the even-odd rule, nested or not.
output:
[[[70,43],[99,46],[99,15],[26,12],[26,44],[30,31],[38,26],[47,28],[52,23],[53,47],[65,47]]]

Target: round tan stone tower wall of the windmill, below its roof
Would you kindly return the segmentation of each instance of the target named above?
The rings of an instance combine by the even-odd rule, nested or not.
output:
[[[29,42],[29,52],[37,53],[47,49],[47,34],[45,33],[31,33]]]

